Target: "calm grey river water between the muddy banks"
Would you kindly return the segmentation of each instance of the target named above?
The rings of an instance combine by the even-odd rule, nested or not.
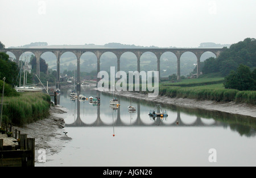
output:
[[[155,103],[112,96],[83,86],[81,94],[101,97],[100,105],[72,101],[61,89],[65,131],[63,149],[35,166],[256,166],[256,118],[162,105],[167,118],[150,118]],[[177,121],[179,123],[177,123]]]

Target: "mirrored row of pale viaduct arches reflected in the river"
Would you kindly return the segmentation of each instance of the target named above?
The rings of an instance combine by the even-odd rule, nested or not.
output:
[[[108,97],[102,97],[102,102],[108,101]],[[120,102],[123,102],[122,100]],[[88,101],[80,101],[78,98],[72,101],[72,111],[74,122],[67,123],[71,126],[218,126],[219,122],[213,122],[209,119],[181,113],[180,110],[169,110],[169,117],[149,117],[147,105],[137,103],[137,111],[128,111],[124,104],[117,107],[115,105],[93,104]],[[123,108],[122,108],[123,105]],[[101,108],[102,106],[102,108]],[[109,107],[111,110],[109,110]],[[111,111],[111,112],[110,112]],[[114,111],[114,113],[113,113]],[[121,114],[122,112],[122,114]],[[97,114],[96,114],[97,113]],[[114,118],[113,118],[113,114]],[[204,122],[203,122],[204,121]]]

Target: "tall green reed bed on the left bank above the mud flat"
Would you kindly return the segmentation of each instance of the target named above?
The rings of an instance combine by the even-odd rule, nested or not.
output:
[[[22,126],[49,115],[51,98],[44,93],[21,93],[19,96],[5,97],[2,124]]]

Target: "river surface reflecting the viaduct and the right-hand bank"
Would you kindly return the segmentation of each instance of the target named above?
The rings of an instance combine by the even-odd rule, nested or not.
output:
[[[111,96],[106,93],[98,92],[86,88],[82,90],[86,97],[99,96],[99,104],[90,104],[88,101],[81,101],[79,98],[72,101],[68,97],[71,90],[62,89],[58,102],[61,106],[67,107],[73,112],[73,119],[69,119],[66,127],[101,127],[113,126],[113,136],[115,126],[139,126],[139,127],[230,127],[231,130],[237,131],[240,135],[254,136],[256,121],[255,118],[245,117],[237,114],[229,114],[219,111],[209,111],[201,109],[191,109],[178,107],[174,105],[163,106],[167,110],[168,117],[149,117],[148,113],[154,109],[154,102],[143,100],[134,100],[133,105],[136,111],[128,111],[127,106],[130,104],[130,98],[118,97],[119,107],[110,107],[109,100]],[[82,93],[81,92],[81,93]]]

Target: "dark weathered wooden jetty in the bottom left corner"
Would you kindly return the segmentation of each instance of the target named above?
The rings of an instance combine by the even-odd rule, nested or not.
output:
[[[34,167],[35,138],[27,138],[17,130],[14,135],[0,133],[0,167]]]

